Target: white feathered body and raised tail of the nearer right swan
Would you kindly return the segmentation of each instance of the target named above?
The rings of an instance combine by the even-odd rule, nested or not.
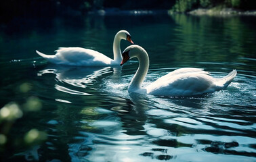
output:
[[[146,87],[147,93],[163,96],[192,96],[197,94],[204,94],[207,92],[214,92],[226,88],[236,76],[234,70],[228,76],[223,78],[213,78],[209,72],[197,72],[193,69],[190,72],[180,69],[180,72],[169,73]],[[191,71],[192,70],[192,71]]]

